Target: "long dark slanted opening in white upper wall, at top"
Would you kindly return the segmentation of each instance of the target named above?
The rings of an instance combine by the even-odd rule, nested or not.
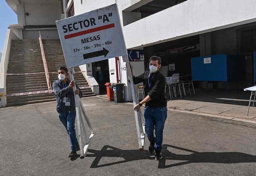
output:
[[[132,10],[132,11],[124,10],[123,11],[123,24],[124,24],[124,26],[128,25],[132,22],[138,21],[142,18],[148,17],[150,15],[153,15],[157,12],[163,11],[164,9],[175,6],[175,5],[185,2],[185,1],[187,1],[187,0],[153,0],[139,8]],[[138,13],[140,16],[139,18],[138,18]]]

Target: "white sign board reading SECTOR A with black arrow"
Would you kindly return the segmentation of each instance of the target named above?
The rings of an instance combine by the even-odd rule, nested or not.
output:
[[[127,55],[116,4],[56,24],[68,68]]]

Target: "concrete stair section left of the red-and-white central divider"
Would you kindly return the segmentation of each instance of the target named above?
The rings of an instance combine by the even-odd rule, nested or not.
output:
[[[7,73],[44,72],[39,40],[12,40]],[[6,92],[22,93],[48,90],[45,74],[7,75]],[[42,103],[55,100],[54,94],[7,97],[6,106]]]

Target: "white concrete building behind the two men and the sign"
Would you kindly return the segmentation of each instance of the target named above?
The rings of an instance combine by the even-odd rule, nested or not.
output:
[[[6,0],[16,12],[18,24],[10,25],[10,33],[19,39],[58,38],[55,21],[117,3],[127,49],[141,51],[142,58],[135,74],[148,69],[152,55],[162,57],[163,66],[175,64],[175,70],[165,69],[166,76],[180,73],[191,75],[192,57],[215,54],[246,57],[246,80],[239,88],[253,84],[253,52],[256,51],[256,2],[254,0]],[[6,41],[8,43],[8,40]],[[136,51],[135,51],[136,50]],[[7,67],[4,50],[1,64]],[[129,51],[129,53],[130,53]],[[128,54],[129,54],[128,53]],[[139,52],[138,52],[139,53]],[[142,55],[143,55],[142,54]],[[134,58],[133,58],[134,59]],[[126,71],[120,59],[119,78],[127,83]],[[172,65],[173,66],[173,65]],[[6,70],[7,68],[5,68]],[[91,84],[116,82],[115,59],[80,66]],[[112,73],[112,74],[111,74]],[[114,73],[114,74],[113,74]],[[90,82],[90,81],[89,81]],[[96,83],[97,82],[97,83]],[[246,85],[245,85],[246,84]],[[0,84],[3,87],[2,83]],[[197,85],[196,85],[197,86]],[[199,86],[199,85],[198,85]],[[225,88],[225,83],[214,83]],[[230,85],[231,88],[233,84]],[[131,100],[126,90],[126,100]]]

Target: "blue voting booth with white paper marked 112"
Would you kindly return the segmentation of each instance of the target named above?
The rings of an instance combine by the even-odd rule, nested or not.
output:
[[[193,81],[238,82],[245,79],[245,58],[225,54],[191,58]]]

